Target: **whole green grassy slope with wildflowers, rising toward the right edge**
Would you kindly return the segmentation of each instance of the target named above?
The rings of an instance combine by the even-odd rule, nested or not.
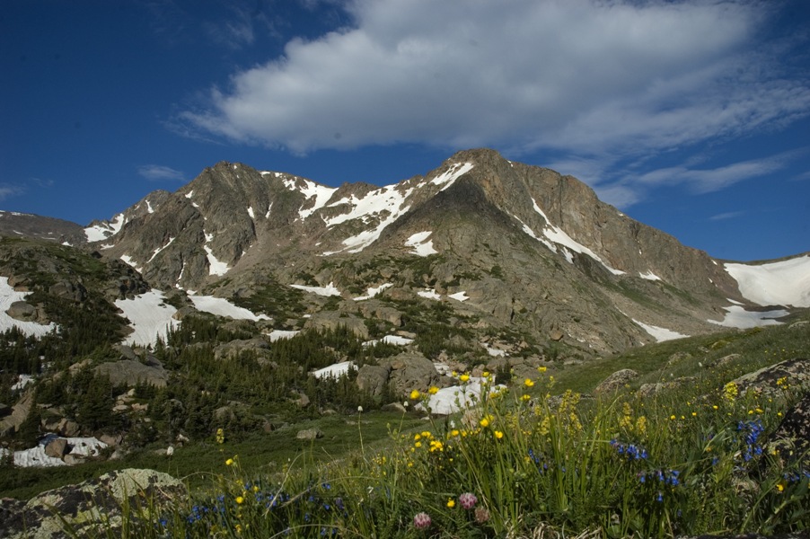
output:
[[[738,356],[718,367],[730,354]],[[239,442],[226,433],[224,444],[212,437],[171,459],[144,451],[121,463],[14,471],[0,482],[40,483],[6,487],[0,495],[24,497],[46,481],[75,482],[113,467],[185,478],[189,497],[129,517],[132,537],[806,532],[810,455],[790,455],[789,445],[770,440],[801,393],[782,385],[775,394],[733,394],[726,384],[808,355],[806,326],[725,331],[550,367],[484,398],[464,416],[363,412]],[[580,394],[626,367],[639,378],[618,397]],[[691,376],[690,383],[671,384],[655,397],[634,392],[682,376]],[[324,436],[295,439],[298,429],[309,428]]]

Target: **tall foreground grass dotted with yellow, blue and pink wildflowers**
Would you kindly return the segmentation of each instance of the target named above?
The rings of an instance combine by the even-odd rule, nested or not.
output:
[[[542,370],[542,369],[541,369]],[[469,373],[456,375],[463,402]],[[673,537],[775,535],[810,528],[807,455],[770,437],[797,398],[720,384],[711,393],[596,400],[553,376],[506,388],[484,373],[480,399],[436,417],[414,390],[389,441],[325,464],[262,475],[228,453],[221,473],[172,507],[130,512],[133,537]],[[696,392],[693,392],[696,393]],[[421,408],[422,411],[411,411]],[[358,419],[362,418],[358,409]],[[403,414],[403,418],[404,418]]]

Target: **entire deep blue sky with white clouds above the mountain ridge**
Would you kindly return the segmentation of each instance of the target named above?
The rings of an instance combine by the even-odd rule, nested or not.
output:
[[[488,146],[682,243],[810,251],[806,0],[8,0],[0,208],[205,167],[388,184]]]

